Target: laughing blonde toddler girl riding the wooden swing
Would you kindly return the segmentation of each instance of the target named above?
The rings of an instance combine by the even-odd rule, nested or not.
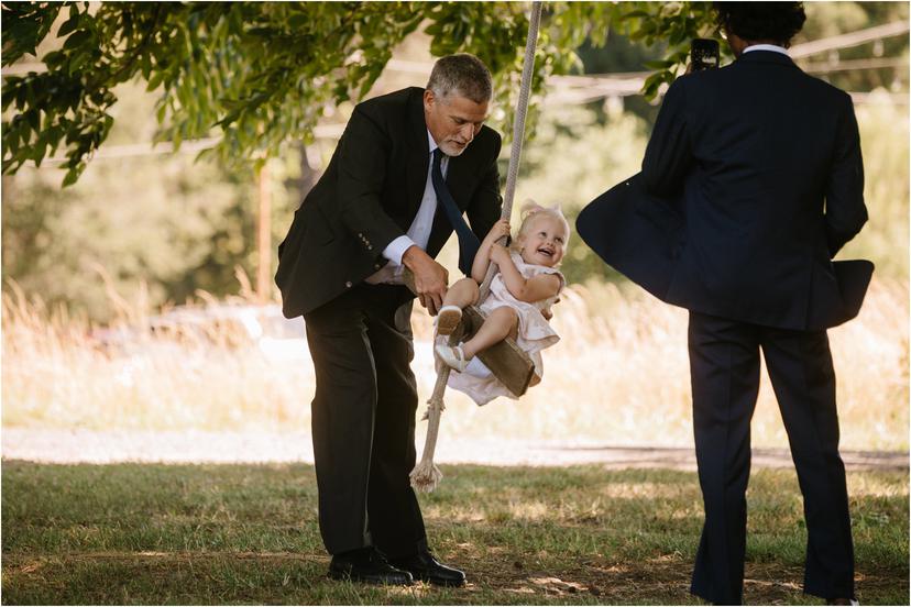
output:
[[[453,373],[449,386],[465,393],[479,405],[497,396],[516,398],[474,356],[491,345],[513,338],[535,363],[531,385],[544,374],[540,351],[557,343],[560,338],[541,314],[560,295],[566,280],[557,269],[563,258],[569,238],[569,223],[559,209],[533,205],[526,210],[518,236],[509,249],[496,244],[509,235],[508,220],[501,220],[481,243],[471,278],[462,278],[447,291],[437,320],[438,335],[449,335],[462,318],[462,308],[478,302],[479,283],[484,280],[487,266],[496,263],[500,272],[491,282],[491,291],[480,309],[487,314],[484,323],[470,340],[456,346],[439,343],[439,357]]]

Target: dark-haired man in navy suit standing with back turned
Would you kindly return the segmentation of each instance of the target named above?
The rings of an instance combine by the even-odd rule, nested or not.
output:
[[[868,262],[836,272],[831,261],[867,220],[857,123],[848,95],[787,54],[801,3],[715,7],[737,60],[673,82],[641,174],[578,225],[605,261],[690,310],[705,508],[692,593],[743,600],[761,351],[803,493],[804,592],[849,604],[854,553],[825,329],[857,313],[872,272]]]

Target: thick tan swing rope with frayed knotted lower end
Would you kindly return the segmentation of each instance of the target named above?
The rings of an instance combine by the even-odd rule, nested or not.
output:
[[[531,2],[531,15],[528,20],[528,37],[525,42],[525,59],[522,66],[522,82],[519,85],[519,98],[516,108],[516,120],[513,123],[513,147],[509,152],[509,170],[506,174],[506,195],[503,198],[502,219],[509,219],[513,214],[513,198],[516,194],[516,177],[518,176],[519,158],[522,157],[522,144],[525,137],[525,117],[528,113],[528,96],[531,91],[531,74],[535,68],[535,48],[538,43],[538,25],[541,21],[541,2]],[[498,244],[506,244],[505,236],[497,241]],[[483,301],[491,289],[491,280],[496,274],[496,264],[491,262],[484,283],[481,285],[481,297]],[[462,334],[456,331],[449,338],[449,344],[459,343]],[[436,360],[436,351],[435,351]],[[433,386],[433,394],[427,401],[429,407],[425,419],[427,419],[427,439],[424,442],[424,453],[420,462],[411,471],[411,486],[421,492],[432,492],[442,478],[442,473],[433,464],[433,452],[437,449],[437,435],[440,428],[440,416],[444,409],[443,393],[449,382],[449,374],[452,371],[449,365],[438,361],[440,369],[437,373],[437,383]]]

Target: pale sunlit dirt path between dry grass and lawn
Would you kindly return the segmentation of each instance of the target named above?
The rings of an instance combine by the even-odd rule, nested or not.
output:
[[[420,453],[422,442],[418,444]],[[308,432],[97,432],[4,429],[2,457],[44,463],[312,463]],[[908,470],[908,452],[842,451],[847,470]],[[566,466],[604,464],[612,468],[695,470],[690,446],[617,446],[584,442],[449,440],[437,448],[441,464]],[[755,467],[790,467],[784,449],[754,449]]]

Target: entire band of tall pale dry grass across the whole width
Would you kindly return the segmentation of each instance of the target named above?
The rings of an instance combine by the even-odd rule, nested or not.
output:
[[[141,307],[119,302],[114,327],[142,327]],[[134,330],[111,350],[85,319],[14,287],[2,312],[4,427],[309,428],[315,380],[303,344],[270,355],[224,325],[201,335]],[[875,279],[860,316],[830,333],[847,449],[908,449],[908,284]],[[425,401],[435,379],[431,325],[419,309],[413,320]],[[685,311],[634,288],[593,284],[567,293],[553,324],[562,341],[545,352],[544,382],[519,401],[483,408],[450,390],[440,440],[692,443]],[[753,428],[757,446],[787,444],[765,373]]]

